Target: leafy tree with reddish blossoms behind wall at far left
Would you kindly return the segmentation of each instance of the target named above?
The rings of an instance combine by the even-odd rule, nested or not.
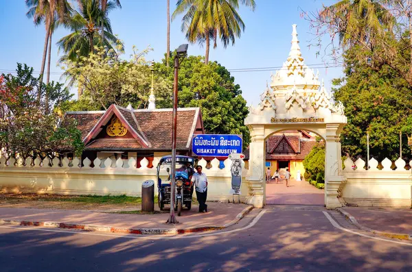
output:
[[[43,84],[33,76],[33,69],[18,64],[17,75],[0,77],[0,149],[5,158],[48,156],[65,149],[81,153],[80,131],[72,119],[62,116],[59,106],[71,95],[62,84]],[[37,101],[42,84],[41,102]],[[45,94],[49,105],[45,106]]]

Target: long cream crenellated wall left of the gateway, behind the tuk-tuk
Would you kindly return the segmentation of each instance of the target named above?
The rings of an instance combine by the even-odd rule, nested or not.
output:
[[[153,160],[156,166],[159,158]],[[141,196],[141,184],[146,180],[155,181],[155,195],[157,195],[157,171],[155,168],[148,169],[148,160],[141,160],[141,167],[136,168],[136,160],[106,160],[96,159],[95,167],[90,167],[91,161],[86,158],[84,166],[79,167],[80,160],[67,158],[61,162],[57,158],[49,164],[40,160],[27,159],[17,160],[14,163],[5,162],[0,158],[0,191],[22,192],[22,193],[54,193],[61,195],[130,195]],[[207,162],[200,160],[198,164],[203,166],[209,186],[207,199],[209,200],[231,200],[231,160],[225,160],[225,169],[219,169],[219,161],[211,161],[211,169],[206,169]],[[52,166],[50,166],[52,165]],[[246,173],[244,171],[243,173]],[[168,174],[161,171],[161,179],[165,181]],[[164,182],[165,183],[165,182]],[[243,182],[242,193],[247,195],[247,184]],[[196,197],[196,194],[193,194]],[[242,197],[244,199],[244,197]],[[237,200],[237,199],[236,199]]]

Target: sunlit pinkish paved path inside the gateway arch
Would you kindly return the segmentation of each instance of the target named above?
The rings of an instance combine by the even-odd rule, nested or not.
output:
[[[275,183],[272,180],[266,184],[266,204],[286,204],[286,205],[324,205],[325,192],[304,180],[298,182],[290,180],[289,187],[286,181],[279,179]]]

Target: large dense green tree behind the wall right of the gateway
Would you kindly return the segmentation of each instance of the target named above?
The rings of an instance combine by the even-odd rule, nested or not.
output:
[[[407,54],[407,45],[394,43]],[[366,157],[367,132],[370,154],[377,160],[399,156],[402,132],[403,154],[409,156],[407,134],[412,132],[412,92],[408,82],[391,66],[380,69],[365,65],[354,55],[354,47],[345,54],[345,77],[334,79],[334,99],[345,106],[347,125],[341,134],[342,150],[352,158]],[[368,58],[365,54],[364,58]],[[409,56],[408,56],[409,58]]]

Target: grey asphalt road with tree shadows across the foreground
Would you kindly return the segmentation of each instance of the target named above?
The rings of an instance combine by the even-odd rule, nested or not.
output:
[[[410,245],[343,232],[321,207],[267,207],[246,230],[179,239],[0,226],[0,271],[412,271]]]

